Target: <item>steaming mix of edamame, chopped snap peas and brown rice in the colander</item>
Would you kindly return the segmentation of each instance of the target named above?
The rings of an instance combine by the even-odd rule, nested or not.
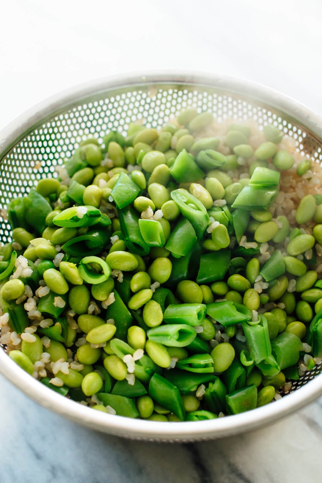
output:
[[[87,139],[8,203],[0,342],[42,384],[102,412],[200,421],[268,404],[321,363],[314,167],[272,124],[219,139],[214,123],[189,108]]]

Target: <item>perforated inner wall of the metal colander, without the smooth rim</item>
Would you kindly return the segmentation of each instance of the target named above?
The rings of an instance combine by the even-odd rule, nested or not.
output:
[[[198,111],[210,111],[222,121],[225,118],[254,119],[260,126],[272,123],[297,142],[297,149],[315,162],[322,162],[322,142],[282,112],[264,103],[231,92],[191,85],[155,84],[93,94],[90,101],[80,102],[70,109],[49,118],[32,129],[26,137],[1,158],[0,210],[9,199],[23,196],[41,178],[56,176],[55,166],[89,135],[102,142],[111,129],[125,134],[130,122],[144,120],[147,127],[158,127],[168,122],[171,114],[194,106]],[[3,216],[1,216],[3,215]],[[10,225],[0,211],[0,239],[11,240]],[[306,384],[322,371],[322,365],[306,372],[296,381],[290,392]]]

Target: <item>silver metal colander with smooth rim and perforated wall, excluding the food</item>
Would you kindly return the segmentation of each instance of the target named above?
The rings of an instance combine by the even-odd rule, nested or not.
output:
[[[157,128],[171,114],[189,106],[211,111],[219,121],[229,117],[252,118],[260,126],[273,123],[295,139],[301,154],[322,162],[322,120],[277,92],[206,74],[126,75],[65,91],[37,105],[0,133],[0,210],[13,196],[27,194],[41,178],[57,176],[56,165],[87,136],[102,142],[106,131],[117,129],[125,134],[128,124],[138,119]],[[1,216],[0,239],[11,240],[10,225]],[[90,428],[148,440],[213,439],[262,426],[322,395],[322,375],[316,377],[321,371],[322,365],[306,372],[281,400],[251,412],[211,421],[160,423],[106,416],[62,398],[0,350],[0,372],[42,405]]]

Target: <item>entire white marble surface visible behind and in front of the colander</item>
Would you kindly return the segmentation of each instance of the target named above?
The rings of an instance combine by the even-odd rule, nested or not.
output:
[[[0,129],[75,84],[182,69],[266,84],[322,114],[320,0],[11,0],[2,11]],[[88,431],[0,377],[0,482],[315,483],[322,400],[274,426],[186,445]]]

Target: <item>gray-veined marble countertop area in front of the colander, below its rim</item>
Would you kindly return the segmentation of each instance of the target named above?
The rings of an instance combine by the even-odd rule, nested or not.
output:
[[[0,442],[1,483],[315,483],[322,399],[252,433],[173,445],[77,426],[0,376]]]

